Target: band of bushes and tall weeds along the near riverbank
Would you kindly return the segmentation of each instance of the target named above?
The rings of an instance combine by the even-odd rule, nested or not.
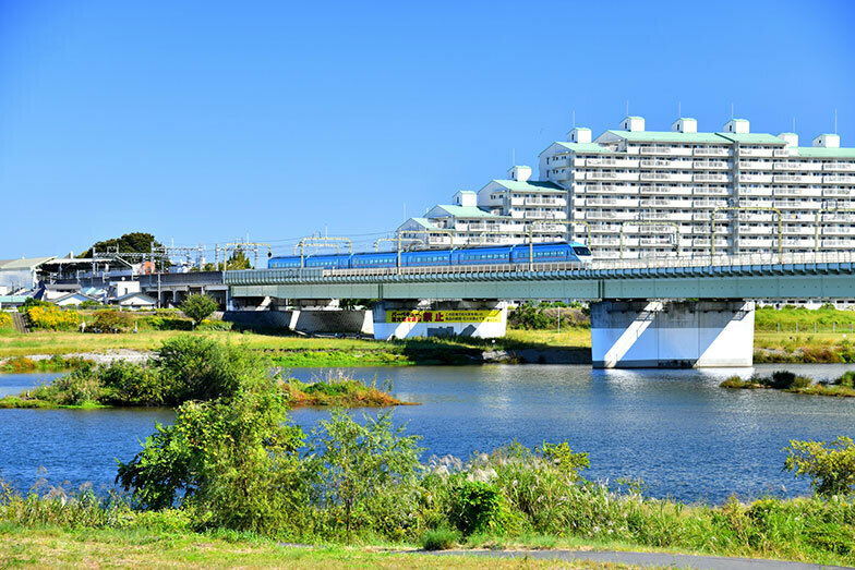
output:
[[[334,411],[304,433],[257,353],[214,343],[205,357],[225,372],[205,372],[213,376],[203,383],[200,353],[172,349],[159,357],[174,374],[174,424],[158,425],[120,462],[121,490],[24,496],[4,486],[0,534],[38,537],[47,529],[53,544],[83,532],[103,542],[135,533],[162,545],[230,537],[237,549],[272,541],[595,546],[855,563],[855,445],[847,438],[792,441],[785,450],[784,468],[810,478],[812,497],[683,505],[647,498],[639,483],[586,481],[588,456],[566,441],[423,462],[419,438],[395,427],[390,412],[357,421]]]

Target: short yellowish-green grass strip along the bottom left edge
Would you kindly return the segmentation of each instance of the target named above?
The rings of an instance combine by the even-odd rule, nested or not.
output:
[[[394,551],[397,550],[397,551]],[[289,546],[248,534],[69,530],[0,524],[0,567],[96,568],[484,568],[484,559],[424,556],[400,547]],[[637,568],[626,565],[491,558],[491,568]]]

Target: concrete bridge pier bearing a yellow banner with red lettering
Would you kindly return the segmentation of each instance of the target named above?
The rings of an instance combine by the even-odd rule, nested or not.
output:
[[[375,339],[505,336],[504,301],[384,300],[372,310]]]

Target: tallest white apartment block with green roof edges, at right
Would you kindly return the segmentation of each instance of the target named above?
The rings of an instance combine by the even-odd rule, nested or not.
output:
[[[751,133],[734,119],[698,132],[681,118],[646,131],[627,117],[595,141],[577,128],[540,155],[540,178],[565,189],[568,237],[594,257],[839,251],[855,246],[855,148],[836,134]],[[779,231],[780,219],[780,231]]]

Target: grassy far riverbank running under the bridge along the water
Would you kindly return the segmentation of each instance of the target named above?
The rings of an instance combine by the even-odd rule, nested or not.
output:
[[[839,312],[844,313],[844,312]],[[769,328],[763,322],[763,328]],[[27,372],[8,365],[10,359],[27,357],[34,371],[55,355],[83,359],[98,364],[116,360],[142,363],[164,341],[182,331],[157,330],[139,333],[93,335],[39,331],[0,333],[0,371]],[[409,366],[459,364],[590,364],[591,338],[586,327],[554,330],[508,329],[501,339],[412,339],[395,342],[371,339],[312,338],[293,333],[204,331],[218,340],[245,343],[264,352],[280,367]],[[494,342],[495,341],[495,342]],[[855,362],[855,336],[848,331],[794,333],[756,330],[756,364]],[[22,361],[23,362],[23,361]],[[3,369],[5,366],[5,369]]]

